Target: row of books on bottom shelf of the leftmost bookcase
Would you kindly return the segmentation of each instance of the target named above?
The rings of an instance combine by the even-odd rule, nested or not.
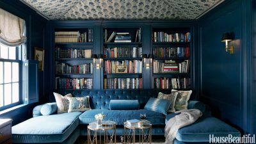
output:
[[[55,78],[56,89],[92,89],[92,79],[70,79],[70,78]]]

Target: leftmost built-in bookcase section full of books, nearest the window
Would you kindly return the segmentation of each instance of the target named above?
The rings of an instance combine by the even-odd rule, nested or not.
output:
[[[93,29],[55,29],[55,89],[93,89]]]

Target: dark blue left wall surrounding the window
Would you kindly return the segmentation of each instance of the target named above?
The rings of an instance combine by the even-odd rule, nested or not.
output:
[[[44,48],[45,46],[45,24],[47,22],[46,19],[38,15],[34,10],[31,10],[28,6],[21,3],[20,1],[16,0],[1,0],[0,1],[0,8],[6,10],[22,19],[26,20],[26,36],[27,36],[27,59],[33,60],[34,59],[34,47],[41,47]],[[47,54],[47,52],[45,52]],[[39,72],[38,79],[39,79],[39,100],[40,102],[45,102],[44,96],[44,85],[45,85],[45,74],[46,71]],[[0,115],[0,118],[12,118],[13,124],[18,124],[23,120],[26,120],[32,116],[32,109],[35,104],[29,104],[27,106],[23,106],[22,108],[15,109],[10,111],[9,113],[4,113]]]

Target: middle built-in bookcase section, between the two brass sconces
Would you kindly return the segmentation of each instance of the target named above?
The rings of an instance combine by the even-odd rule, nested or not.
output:
[[[104,28],[104,89],[141,89],[141,28]]]

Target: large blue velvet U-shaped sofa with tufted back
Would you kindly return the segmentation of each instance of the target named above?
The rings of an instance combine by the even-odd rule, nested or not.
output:
[[[175,116],[174,113],[163,115],[156,111],[143,109],[150,97],[157,97],[159,92],[171,93],[171,90],[65,90],[56,91],[62,95],[72,93],[74,97],[90,96],[92,110],[75,113],[61,113],[42,116],[40,106],[33,110],[33,118],[12,127],[13,143],[74,143],[79,136],[87,134],[87,125],[95,121],[97,113],[104,113],[104,120],[116,122],[116,134],[124,134],[124,122],[133,118],[140,118],[141,113],[147,114],[147,120],[152,122],[152,135],[164,136],[166,122]],[[140,109],[110,110],[110,100],[138,100]],[[50,96],[54,102],[54,96]],[[201,105],[200,105],[201,104]],[[198,108],[202,111],[202,103],[196,102],[193,94],[188,109]],[[204,112],[204,116],[195,124],[179,129],[175,138],[178,143],[209,143],[209,134],[216,136],[240,136],[240,132],[225,124],[221,120]]]

